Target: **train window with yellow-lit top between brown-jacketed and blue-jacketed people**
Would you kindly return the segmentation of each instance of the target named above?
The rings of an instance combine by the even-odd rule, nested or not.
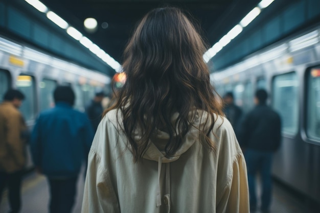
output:
[[[24,93],[25,100],[20,107],[26,121],[35,119],[36,96],[34,78],[28,75],[20,75],[16,79],[17,88]]]

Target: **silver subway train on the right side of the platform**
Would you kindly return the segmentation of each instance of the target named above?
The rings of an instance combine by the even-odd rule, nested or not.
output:
[[[211,82],[220,96],[233,91],[244,113],[265,88],[282,119],[282,146],[272,174],[307,201],[320,204],[320,26],[267,46],[217,70]],[[313,202],[312,202],[313,203]]]

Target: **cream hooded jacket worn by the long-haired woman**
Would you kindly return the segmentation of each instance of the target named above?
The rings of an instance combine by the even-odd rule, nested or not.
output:
[[[158,130],[143,161],[133,162],[116,113],[104,116],[90,149],[82,213],[249,212],[246,165],[226,119],[218,116],[209,134],[215,151],[192,127],[175,155],[165,157],[169,134]],[[194,126],[201,129],[206,113],[195,113]]]

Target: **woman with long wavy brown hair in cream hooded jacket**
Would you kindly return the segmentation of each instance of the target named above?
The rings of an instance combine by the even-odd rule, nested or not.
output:
[[[245,161],[204,51],[178,9],[141,20],[90,150],[83,213],[249,212]]]

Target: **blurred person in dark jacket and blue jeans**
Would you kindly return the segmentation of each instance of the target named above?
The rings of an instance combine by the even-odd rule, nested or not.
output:
[[[256,91],[256,107],[244,118],[239,136],[247,162],[250,209],[257,209],[256,175],[259,172],[262,181],[262,212],[269,212],[272,195],[272,155],[281,144],[280,116],[266,105],[267,97],[266,90]]]

